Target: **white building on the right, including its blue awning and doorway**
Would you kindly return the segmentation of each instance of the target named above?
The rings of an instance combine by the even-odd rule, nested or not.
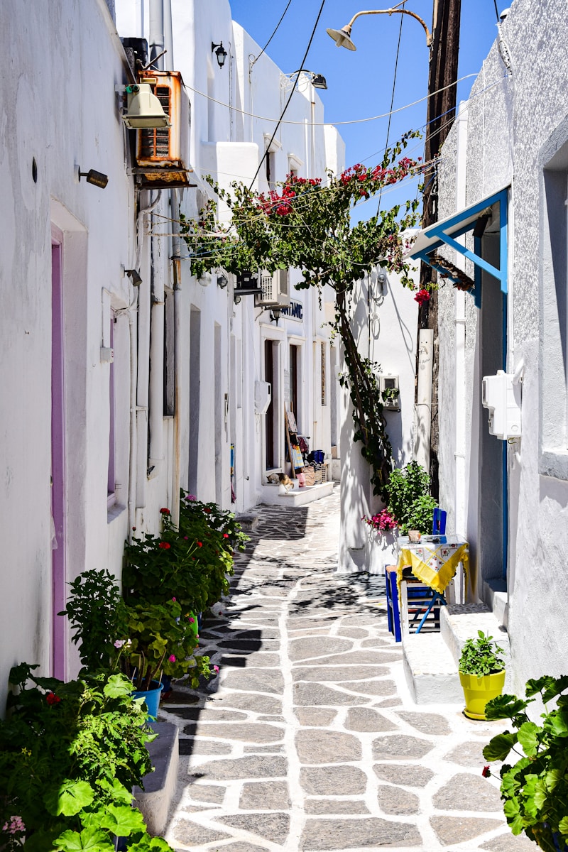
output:
[[[447,218],[416,243],[475,282],[439,291],[440,503],[470,542],[474,596],[508,627],[515,690],[565,673],[567,35],[560,0],[512,4],[443,149]],[[499,370],[490,423],[482,379]]]

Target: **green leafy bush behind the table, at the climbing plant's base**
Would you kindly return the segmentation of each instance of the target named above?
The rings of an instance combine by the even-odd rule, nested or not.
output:
[[[432,532],[433,510],[437,504],[429,496],[429,490],[430,477],[416,462],[394,469],[388,477],[385,500],[401,535],[409,530]]]

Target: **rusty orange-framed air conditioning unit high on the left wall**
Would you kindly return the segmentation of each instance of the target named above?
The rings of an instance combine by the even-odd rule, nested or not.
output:
[[[137,180],[146,189],[189,187],[191,107],[179,71],[141,71],[140,83],[147,83],[169,118],[169,127],[136,131]]]

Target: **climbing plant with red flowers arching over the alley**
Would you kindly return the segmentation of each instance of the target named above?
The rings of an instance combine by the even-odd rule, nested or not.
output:
[[[256,193],[233,182],[227,191],[207,180],[231,212],[220,224],[216,204],[209,200],[198,220],[183,220],[181,230],[191,252],[192,273],[200,278],[214,268],[242,273],[258,268],[299,268],[303,280],[296,289],[330,285],[336,294],[332,331],[341,337],[347,371],[340,383],[353,402],[353,439],[370,463],[376,494],[383,494],[393,469],[392,448],[386,432],[377,372],[378,365],[359,352],[353,335],[355,283],[377,264],[399,273],[404,286],[413,286],[404,262],[408,246],[404,232],[416,224],[418,201],[381,210],[365,222],[352,222],[353,205],[370,199],[419,170],[419,161],[401,157],[410,132],[387,151],[373,168],[357,164],[320,178],[289,175],[271,192]]]

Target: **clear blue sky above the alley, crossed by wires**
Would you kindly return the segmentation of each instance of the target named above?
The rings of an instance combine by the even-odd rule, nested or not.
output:
[[[231,0],[232,17],[264,46],[283,13],[287,0]],[[284,72],[293,72],[307,48],[321,0],[291,0],[290,9],[267,48],[267,54]],[[499,3],[502,10],[507,3]],[[393,94],[393,78],[399,32],[399,61],[393,108],[405,107],[427,94],[428,49],[426,34],[410,15],[381,14],[358,18],[352,38],[357,51],[337,48],[325,32],[327,27],[340,29],[362,9],[377,8],[360,0],[326,0],[305,66],[324,75],[328,89],[319,90],[324,102],[325,120],[336,124],[346,142],[346,164],[375,164],[382,158],[387,140],[387,118],[354,124],[340,124],[369,118],[389,111]],[[388,8],[378,5],[378,8]],[[432,26],[432,0],[409,0],[410,9]],[[477,74],[496,38],[494,0],[462,0],[462,27],[458,76]],[[458,101],[466,100],[474,77],[458,86]],[[389,142],[396,141],[407,130],[419,130],[426,122],[426,101],[393,114]],[[422,154],[423,142],[411,155]],[[402,194],[401,194],[402,193]],[[402,199],[413,197],[416,187],[397,188],[390,197],[383,195],[382,207],[390,207]],[[361,218],[376,212],[371,199],[359,210]]]

